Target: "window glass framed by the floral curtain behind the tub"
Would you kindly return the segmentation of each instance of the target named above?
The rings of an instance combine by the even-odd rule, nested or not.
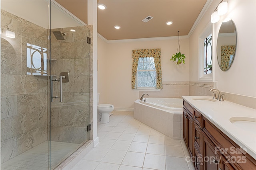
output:
[[[136,87],[156,87],[156,67],[154,63],[154,57],[139,58],[136,75]]]

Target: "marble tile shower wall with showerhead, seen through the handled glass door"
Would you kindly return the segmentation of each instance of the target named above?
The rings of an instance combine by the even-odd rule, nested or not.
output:
[[[76,32],[70,31],[75,29]],[[83,143],[90,139],[90,31],[86,26],[52,29],[65,32],[65,40],[51,37],[51,75],[69,72],[69,82],[62,83],[63,102],[51,105],[51,140]],[[54,96],[59,96],[59,82],[54,82]]]

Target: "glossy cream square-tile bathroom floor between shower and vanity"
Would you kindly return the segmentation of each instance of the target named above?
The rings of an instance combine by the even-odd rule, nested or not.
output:
[[[194,170],[186,162],[183,140],[174,140],[133,118],[113,111],[110,122],[98,124],[100,143],[72,170]]]

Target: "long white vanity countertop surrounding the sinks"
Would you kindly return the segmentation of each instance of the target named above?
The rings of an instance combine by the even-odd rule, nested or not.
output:
[[[182,98],[256,159],[256,129],[240,128],[230,122],[231,117],[256,118],[256,109],[228,101],[193,100],[193,98],[212,99],[211,96],[182,96]]]

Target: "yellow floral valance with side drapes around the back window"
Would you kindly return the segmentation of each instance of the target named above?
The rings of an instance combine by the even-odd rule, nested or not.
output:
[[[140,49],[132,50],[132,89],[136,88],[136,74],[139,58],[154,57],[156,67],[156,89],[162,89],[162,71],[161,71],[161,49]]]

